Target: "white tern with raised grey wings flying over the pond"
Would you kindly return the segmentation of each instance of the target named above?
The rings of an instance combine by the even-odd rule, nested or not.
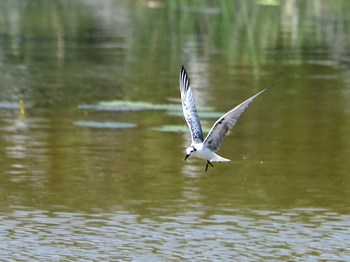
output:
[[[228,162],[229,159],[220,157],[215,154],[219,150],[222,140],[226,136],[229,129],[233,128],[236,124],[240,115],[248,107],[248,105],[261,93],[265,92],[271,86],[265,88],[256,95],[253,95],[250,99],[247,99],[243,103],[237,105],[237,107],[228,111],[225,115],[218,119],[211,128],[208,136],[203,139],[203,132],[199,117],[197,114],[197,109],[195,105],[195,99],[193,97],[192,89],[190,87],[190,79],[187,77],[185,68],[182,66],[180,71],[180,93],[183,115],[185,116],[188,127],[191,131],[192,143],[186,148],[186,159],[193,155],[197,158],[203,158],[207,160],[207,167],[205,167],[205,172],[207,172],[208,165],[211,162]]]

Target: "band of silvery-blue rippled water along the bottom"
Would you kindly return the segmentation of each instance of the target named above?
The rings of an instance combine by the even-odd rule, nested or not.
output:
[[[349,261],[349,218],[310,209],[153,218],[19,209],[0,215],[0,254],[5,261]]]

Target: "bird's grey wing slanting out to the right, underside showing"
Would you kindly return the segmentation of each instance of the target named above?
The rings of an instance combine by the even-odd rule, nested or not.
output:
[[[205,138],[204,146],[208,147],[211,151],[216,152],[219,150],[220,145],[224,137],[226,136],[229,129],[237,123],[238,118],[248,107],[248,105],[260,94],[264,93],[271,86],[265,88],[258,94],[252,96],[250,99],[247,99],[243,103],[237,105],[237,107],[228,111],[223,115],[218,121],[215,122],[214,126],[211,128],[208,136]]]

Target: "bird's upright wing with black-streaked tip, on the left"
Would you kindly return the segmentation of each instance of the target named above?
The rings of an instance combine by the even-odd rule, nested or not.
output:
[[[191,131],[192,143],[202,143],[202,127],[197,114],[195,99],[190,87],[190,79],[187,77],[186,70],[183,68],[183,66],[181,67],[180,71],[180,93],[182,111]]]

